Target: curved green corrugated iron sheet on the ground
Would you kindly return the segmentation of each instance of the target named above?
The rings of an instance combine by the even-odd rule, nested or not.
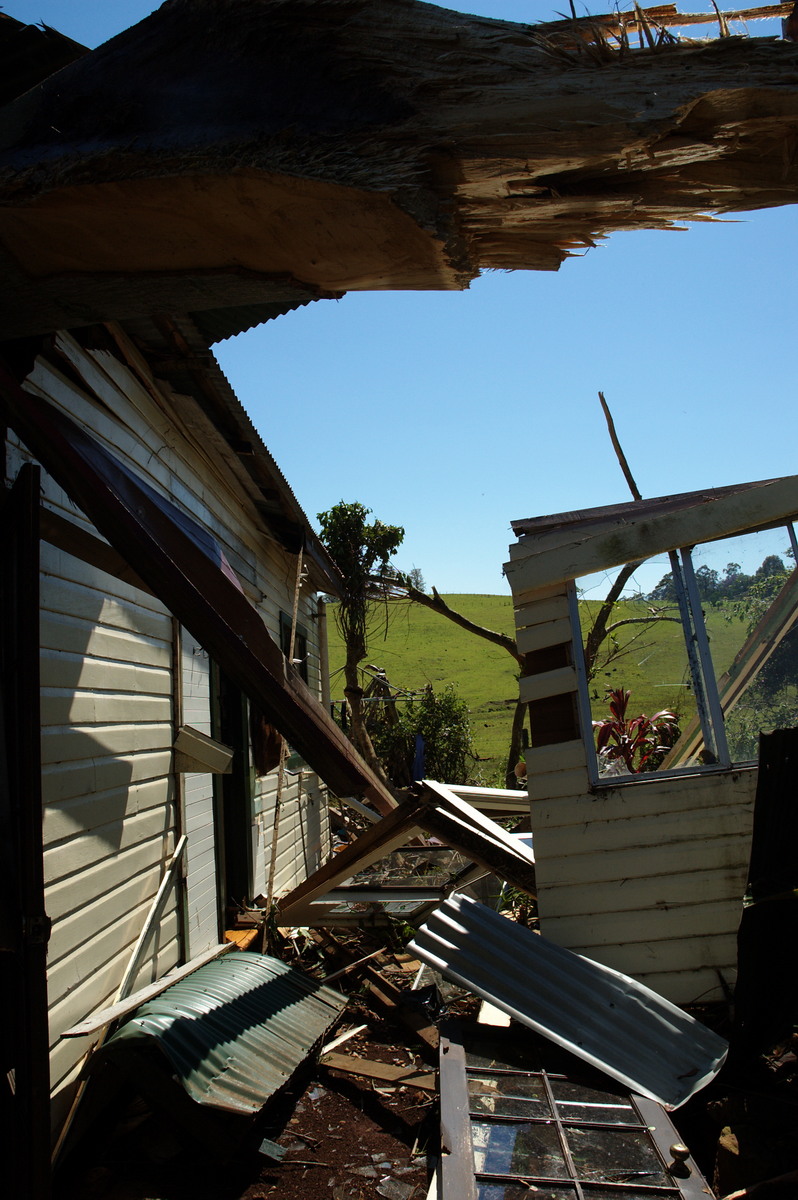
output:
[[[278,959],[229,954],[142,1004],[103,1055],[154,1040],[197,1103],[257,1112],[346,1003],[346,996]]]

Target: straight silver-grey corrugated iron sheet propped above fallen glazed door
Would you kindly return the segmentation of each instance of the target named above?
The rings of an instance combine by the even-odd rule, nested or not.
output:
[[[446,978],[667,1109],[708,1084],[726,1043],[635,979],[450,896],[408,949]]]

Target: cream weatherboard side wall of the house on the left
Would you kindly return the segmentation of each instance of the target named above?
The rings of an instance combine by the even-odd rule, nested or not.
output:
[[[205,431],[203,414],[192,413],[190,428],[176,413],[185,413],[187,401],[173,404],[151,379],[144,386],[112,353],[85,350],[68,335],[59,335],[58,348],[70,370],[62,374],[40,359],[25,386],[83,424],[139,478],[204,526],[277,637],[280,611],[292,611],[295,558],[269,540],[234,464],[229,468],[216,452],[216,434],[210,426]],[[12,438],[6,455],[10,479],[28,458]],[[97,536],[61,488],[46,473],[42,479],[46,506]],[[318,684],[311,619],[316,602],[310,588],[306,593],[300,620],[314,655],[311,679]],[[44,872],[53,919],[48,988],[55,1127],[90,1042],[61,1039],[60,1033],[114,997],[180,832],[172,750],[179,683],[173,678],[175,628],[172,614],[149,593],[42,545]],[[204,709],[205,684],[199,676],[194,684]],[[274,778],[256,788],[251,815],[258,841],[256,893],[266,881]],[[328,848],[318,797],[318,781],[310,773],[301,799],[292,781],[278,845],[282,889],[318,866]],[[212,925],[210,898],[200,894],[200,886],[211,887],[205,784],[191,796],[194,799],[204,812],[200,817],[191,805],[186,812],[191,898],[197,901],[192,953],[211,937]],[[181,899],[175,888],[133,988],[188,956]]]

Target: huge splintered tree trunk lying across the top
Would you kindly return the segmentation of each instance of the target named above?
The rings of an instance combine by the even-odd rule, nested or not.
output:
[[[269,305],[462,288],[793,203],[798,46],[677,24],[169,0],[5,109],[0,318],[17,336],[157,307],[229,334]]]

